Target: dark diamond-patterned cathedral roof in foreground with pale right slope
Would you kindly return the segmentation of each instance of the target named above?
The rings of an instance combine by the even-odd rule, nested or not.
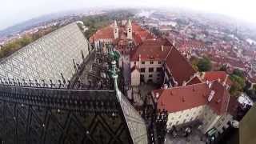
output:
[[[0,114],[6,108],[5,142],[147,143],[144,120],[115,90],[0,85],[0,107]]]

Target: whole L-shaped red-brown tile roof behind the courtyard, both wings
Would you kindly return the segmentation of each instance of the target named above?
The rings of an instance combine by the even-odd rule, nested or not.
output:
[[[164,47],[163,51],[161,46]],[[183,58],[182,54],[166,38],[147,39],[131,53],[130,60],[138,61],[139,55],[142,61],[166,60],[166,66],[178,82],[178,86],[182,86],[183,81],[187,82],[196,73],[186,58]],[[193,82],[198,83],[196,79]]]

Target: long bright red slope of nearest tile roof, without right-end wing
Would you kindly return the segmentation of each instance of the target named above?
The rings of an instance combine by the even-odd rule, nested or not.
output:
[[[205,105],[210,93],[207,87],[206,83],[200,83],[166,90],[154,90],[153,93],[154,95],[159,93],[158,109],[165,109],[172,113]]]

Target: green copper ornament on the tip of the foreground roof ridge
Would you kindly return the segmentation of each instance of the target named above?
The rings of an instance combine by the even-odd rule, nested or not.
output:
[[[111,74],[111,77],[114,79],[114,90],[116,91],[117,93],[117,96],[118,96],[118,102],[121,101],[121,91],[118,89],[118,74],[117,72],[119,72],[120,70],[117,68],[116,66],[116,63],[115,61],[112,61],[111,62],[111,70],[110,71],[110,74]]]

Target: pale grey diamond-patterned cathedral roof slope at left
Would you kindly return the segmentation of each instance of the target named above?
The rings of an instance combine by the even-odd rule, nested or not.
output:
[[[70,79],[75,71],[74,62],[81,64],[81,53],[85,57],[89,54],[88,46],[77,24],[71,23],[2,59],[0,78],[51,79],[54,82],[62,76]]]

